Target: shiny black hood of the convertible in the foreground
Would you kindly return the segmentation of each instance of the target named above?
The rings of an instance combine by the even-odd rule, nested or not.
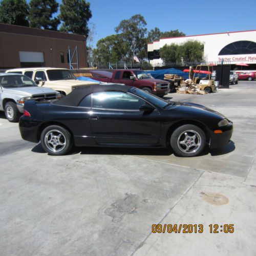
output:
[[[221,113],[209,109],[206,106],[196,104],[196,103],[190,103],[190,102],[174,102],[174,105],[171,105],[175,108],[176,111],[184,111],[184,112],[193,112],[193,113],[198,113],[198,114],[211,114],[212,116],[216,116],[219,118],[226,118],[224,115]]]

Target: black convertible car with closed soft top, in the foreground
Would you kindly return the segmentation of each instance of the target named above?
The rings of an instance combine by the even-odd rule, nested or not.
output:
[[[76,146],[167,147],[182,157],[206,144],[229,143],[232,122],[193,103],[161,99],[135,87],[108,84],[75,89],[59,100],[27,100],[19,120],[23,139],[50,155]]]

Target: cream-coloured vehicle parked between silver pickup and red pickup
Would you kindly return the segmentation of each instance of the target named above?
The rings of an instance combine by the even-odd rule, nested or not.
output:
[[[51,88],[62,95],[67,95],[72,90],[87,86],[88,84],[98,84],[97,82],[77,80],[73,73],[68,69],[57,68],[24,68],[10,69],[6,73],[24,74],[33,79],[38,86]]]

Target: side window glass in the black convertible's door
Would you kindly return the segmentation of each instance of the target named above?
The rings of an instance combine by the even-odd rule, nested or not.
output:
[[[92,95],[92,107],[98,109],[138,110],[145,101],[123,92],[100,92]]]

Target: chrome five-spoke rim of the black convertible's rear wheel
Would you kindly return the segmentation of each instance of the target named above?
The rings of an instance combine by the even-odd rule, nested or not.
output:
[[[45,144],[51,152],[60,152],[66,147],[67,139],[59,130],[50,130],[45,135]]]

